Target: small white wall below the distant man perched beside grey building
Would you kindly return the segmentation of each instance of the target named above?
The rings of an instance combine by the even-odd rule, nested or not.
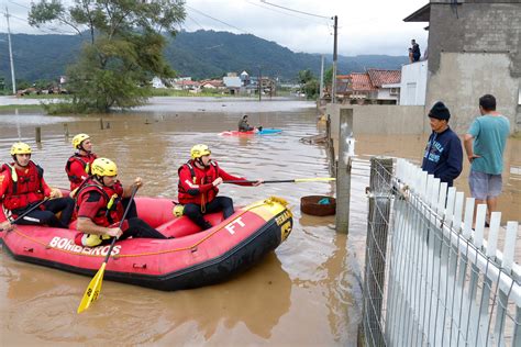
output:
[[[400,104],[424,105],[426,93],[428,61],[407,64],[401,67]]]

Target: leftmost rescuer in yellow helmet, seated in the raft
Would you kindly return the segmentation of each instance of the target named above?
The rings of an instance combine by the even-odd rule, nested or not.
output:
[[[14,161],[0,168],[0,198],[9,217],[1,228],[11,230],[10,221],[30,209],[33,210],[18,220],[16,224],[67,228],[74,212],[74,200],[60,198],[59,190],[47,186],[43,169],[31,160],[31,147],[18,142],[11,147]],[[55,215],[58,212],[62,212],[59,219]]]

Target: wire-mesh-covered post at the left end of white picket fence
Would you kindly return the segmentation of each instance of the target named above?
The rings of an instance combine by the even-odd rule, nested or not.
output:
[[[386,345],[381,325],[381,306],[391,202],[391,177],[392,158],[370,158],[363,315],[366,345],[370,346]]]

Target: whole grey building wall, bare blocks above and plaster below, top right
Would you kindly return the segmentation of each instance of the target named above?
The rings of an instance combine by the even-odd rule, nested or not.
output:
[[[511,131],[521,131],[521,2],[451,2],[431,0],[426,109],[446,102],[452,126],[466,132],[479,113],[479,97],[491,93]]]

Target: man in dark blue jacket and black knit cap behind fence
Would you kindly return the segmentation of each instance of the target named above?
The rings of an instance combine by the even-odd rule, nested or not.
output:
[[[459,137],[448,127],[451,112],[441,101],[429,111],[432,134],[425,146],[421,168],[442,182],[453,186],[462,172],[463,148]]]

